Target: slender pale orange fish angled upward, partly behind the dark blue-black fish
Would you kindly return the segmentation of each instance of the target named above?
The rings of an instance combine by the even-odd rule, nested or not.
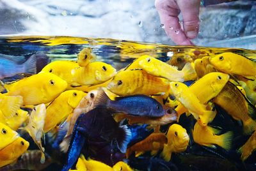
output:
[[[63,142],[61,142],[60,147],[61,147],[61,151],[63,152],[67,152],[68,151],[68,147],[70,144],[70,140],[71,140],[71,135],[74,129],[74,126],[76,124],[76,120],[79,117],[79,115],[84,113],[89,112],[90,110],[93,109],[93,102],[95,97],[97,96],[98,91],[97,90],[93,90],[90,91],[88,94],[86,94],[86,96],[84,96],[81,101],[79,102],[79,104],[77,105],[77,107],[74,109],[74,112],[70,115],[68,115],[68,130],[67,133],[65,135],[65,138],[63,139]]]

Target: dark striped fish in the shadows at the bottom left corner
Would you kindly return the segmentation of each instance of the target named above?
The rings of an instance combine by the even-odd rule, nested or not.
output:
[[[10,171],[10,170],[43,170],[48,167],[51,163],[51,157],[45,153],[45,163],[40,163],[41,151],[31,150],[26,151],[17,162],[13,165],[8,165],[6,167],[0,168],[0,171]]]

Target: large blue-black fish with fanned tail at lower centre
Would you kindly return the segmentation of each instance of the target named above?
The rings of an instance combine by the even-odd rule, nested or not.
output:
[[[131,140],[131,131],[127,126],[120,126],[116,123],[112,114],[113,110],[109,108],[97,107],[78,117],[63,171],[69,170],[76,164],[82,149],[84,149],[84,156],[90,156],[90,151],[86,149],[92,149],[93,145],[97,145],[97,149],[102,147],[102,152],[108,153],[104,154],[105,158],[115,156],[112,153],[114,149],[125,153],[127,144]],[[115,154],[118,153],[115,152]],[[98,152],[98,155],[103,154]]]

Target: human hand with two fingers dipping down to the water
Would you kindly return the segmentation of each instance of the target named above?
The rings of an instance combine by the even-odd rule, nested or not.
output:
[[[166,34],[178,45],[194,45],[199,30],[200,0],[156,0],[156,9]],[[183,29],[178,15],[181,12]]]

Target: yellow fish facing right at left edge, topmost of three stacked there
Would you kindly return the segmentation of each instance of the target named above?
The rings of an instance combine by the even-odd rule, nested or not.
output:
[[[17,110],[17,112],[15,112],[15,115],[8,119],[4,117],[4,115],[0,112],[0,123],[4,123],[7,126],[9,126],[12,130],[16,131],[20,128],[20,125],[27,121],[28,117],[28,112],[21,109]]]

